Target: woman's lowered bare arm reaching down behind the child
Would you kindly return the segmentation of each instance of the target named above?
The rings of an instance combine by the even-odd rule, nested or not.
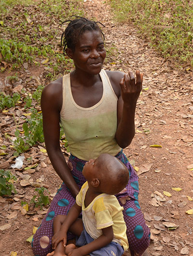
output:
[[[41,94],[43,134],[51,163],[74,197],[79,187],[71,175],[60,148],[60,110],[62,107],[62,79],[47,85]]]

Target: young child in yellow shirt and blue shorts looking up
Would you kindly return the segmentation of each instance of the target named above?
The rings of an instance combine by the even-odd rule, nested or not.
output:
[[[121,192],[129,180],[125,165],[109,154],[89,160],[83,168],[86,182],[67,216],[54,220],[52,245],[55,251],[47,256],[122,256],[129,247],[123,207],[114,194]],[[82,211],[83,219],[78,216]],[[67,243],[67,232],[79,239]]]

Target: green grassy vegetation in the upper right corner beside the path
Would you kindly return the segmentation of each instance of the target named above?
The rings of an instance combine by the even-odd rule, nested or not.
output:
[[[193,5],[189,0],[110,0],[116,19],[133,22],[165,58],[193,66]]]

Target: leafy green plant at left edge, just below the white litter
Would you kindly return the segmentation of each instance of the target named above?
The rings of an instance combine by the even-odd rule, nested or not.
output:
[[[0,170],[0,195],[11,195],[17,193],[13,184],[16,177],[10,171]]]

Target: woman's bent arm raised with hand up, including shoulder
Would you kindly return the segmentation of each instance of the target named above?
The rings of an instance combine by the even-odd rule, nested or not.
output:
[[[138,97],[142,89],[143,74],[136,72],[124,74],[119,71],[107,71],[113,90],[118,97],[117,102],[117,144],[125,148],[131,144],[135,136],[135,111]]]

